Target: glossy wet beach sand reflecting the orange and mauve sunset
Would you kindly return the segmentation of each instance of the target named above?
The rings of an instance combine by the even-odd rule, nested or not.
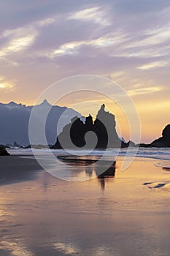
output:
[[[39,171],[34,159],[0,162],[8,177],[24,169],[0,186],[1,256],[169,255],[170,173],[158,160],[121,171],[119,158],[115,178],[83,182]]]

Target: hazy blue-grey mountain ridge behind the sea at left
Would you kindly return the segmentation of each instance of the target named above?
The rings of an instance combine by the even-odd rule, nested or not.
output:
[[[27,146],[29,144],[28,138],[28,123],[29,117],[31,115],[31,110],[33,108],[39,108],[44,110],[44,108],[49,107],[50,103],[45,99],[39,105],[24,105],[22,103],[1,103],[0,102],[0,143],[7,145],[13,145],[14,142],[17,142],[21,146]],[[66,108],[58,105],[50,105],[51,109],[49,115],[47,116],[46,122],[46,136],[47,143],[53,144],[56,140],[56,127],[58,120],[63,115],[64,127],[74,116],[79,116],[83,118],[80,113],[73,110],[72,108]],[[64,112],[67,112],[67,115],[64,115]]]

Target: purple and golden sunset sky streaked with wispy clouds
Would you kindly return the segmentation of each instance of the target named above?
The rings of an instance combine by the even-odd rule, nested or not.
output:
[[[170,123],[169,0],[1,0],[0,31],[0,102],[34,105],[56,81],[88,74],[115,81],[131,97],[142,142]],[[105,103],[128,140],[123,113],[106,97],[86,98]],[[77,110],[94,113],[90,104]]]

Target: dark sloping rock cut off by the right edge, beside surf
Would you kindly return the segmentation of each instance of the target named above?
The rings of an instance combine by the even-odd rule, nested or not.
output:
[[[170,148],[170,124],[167,124],[166,127],[163,129],[161,138],[153,140],[150,144],[141,143],[139,144],[139,146],[144,148]]]

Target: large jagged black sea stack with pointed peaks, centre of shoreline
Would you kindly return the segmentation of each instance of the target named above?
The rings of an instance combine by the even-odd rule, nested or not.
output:
[[[75,116],[71,123],[67,124],[58,135],[57,141],[51,148],[119,148],[128,146],[118,138],[115,129],[115,116],[105,111],[105,105],[101,105],[96,120],[88,116],[83,123]],[[95,134],[95,135],[94,135]]]

